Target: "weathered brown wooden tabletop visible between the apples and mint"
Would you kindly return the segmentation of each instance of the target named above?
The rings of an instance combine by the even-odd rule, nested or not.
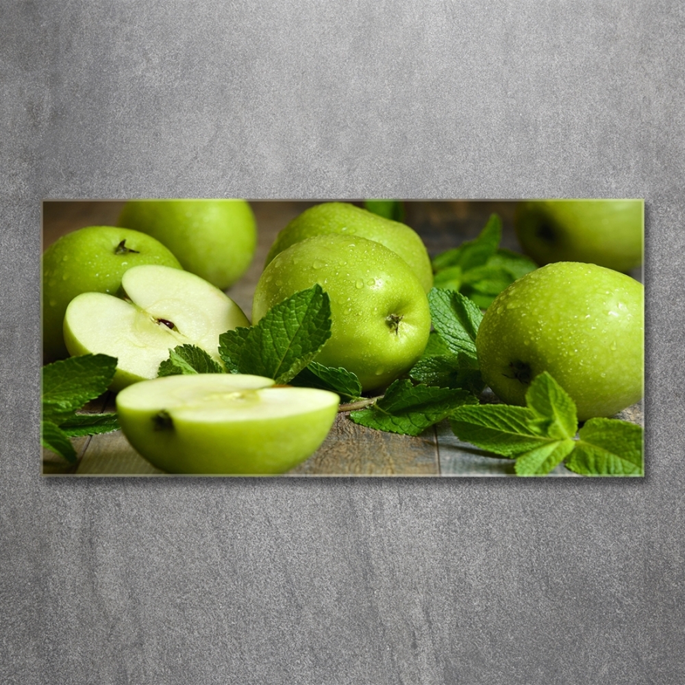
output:
[[[277,232],[290,219],[316,202],[254,201],[251,206],[258,226],[258,247],[250,269],[228,290],[228,295],[249,316],[252,295],[262,273],[264,259]],[[119,201],[45,201],[43,203],[43,249],[65,233],[91,225],[116,225],[123,207]],[[440,201],[406,203],[406,223],[423,238],[431,256],[475,237],[492,212],[503,219],[503,247],[518,249],[512,231],[512,202]],[[114,411],[108,393],[89,404],[93,412]],[[625,410],[621,418],[643,423],[640,406]],[[42,450],[45,475],[166,475],[155,469],[129,445],[121,431],[73,440],[78,459],[73,466],[47,449]],[[384,433],[353,423],[338,414],[323,445],[288,476],[512,476],[514,463],[486,456],[482,450],[460,443],[447,421],[420,436]],[[551,476],[578,477],[558,466]]]

